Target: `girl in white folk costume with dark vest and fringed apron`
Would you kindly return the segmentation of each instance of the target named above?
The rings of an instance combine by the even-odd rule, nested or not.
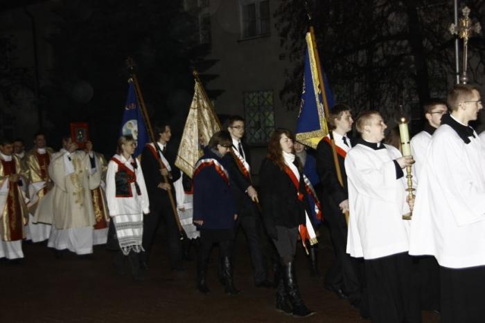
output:
[[[132,158],[135,142],[132,136],[118,139],[118,154],[108,163],[106,198],[121,250],[115,257],[118,273],[123,274],[127,257],[134,279],[141,280],[139,253],[143,250],[143,214],[148,214],[149,201],[139,161]]]

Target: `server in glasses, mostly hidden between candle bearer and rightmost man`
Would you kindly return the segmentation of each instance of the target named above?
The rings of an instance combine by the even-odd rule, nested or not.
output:
[[[411,139],[412,156],[416,163],[413,165],[414,180],[419,182],[421,170],[426,160],[427,146],[430,145],[431,138],[436,129],[441,124],[441,118],[448,113],[446,102],[432,98],[424,104],[426,124],[423,131],[416,134]],[[418,272],[420,279],[421,308],[423,310],[439,311],[439,266],[434,257],[419,257]]]

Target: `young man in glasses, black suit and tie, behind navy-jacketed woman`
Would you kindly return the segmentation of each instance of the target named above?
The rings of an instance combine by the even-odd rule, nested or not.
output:
[[[261,237],[261,216],[256,205],[258,193],[251,182],[249,147],[241,141],[245,131],[244,119],[240,116],[231,116],[227,120],[227,131],[231,134],[233,154],[226,154],[224,158],[228,162],[231,187],[236,198],[237,225],[245,232],[254,268],[254,284],[257,287],[270,288],[272,283],[267,279],[267,264]]]

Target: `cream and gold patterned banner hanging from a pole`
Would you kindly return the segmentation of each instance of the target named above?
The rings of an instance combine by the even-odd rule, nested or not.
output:
[[[215,115],[202,84],[195,80],[194,96],[188,111],[182,140],[180,140],[175,166],[192,178],[195,163],[203,155],[202,147],[209,144],[213,133],[217,131],[220,131],[218,117]]]

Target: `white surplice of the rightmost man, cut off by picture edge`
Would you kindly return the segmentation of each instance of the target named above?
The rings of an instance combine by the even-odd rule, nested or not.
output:
[[[416,201],[410,255],[440,266],[485,265],[485,154],[477,133],[466,144],[448,124],[433,135]]]

